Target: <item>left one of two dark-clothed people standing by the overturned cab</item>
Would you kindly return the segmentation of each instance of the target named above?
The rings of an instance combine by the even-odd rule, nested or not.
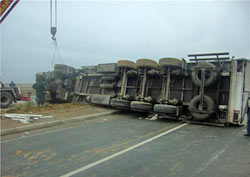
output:
[[[45,103],[45,82],[42,79],[37,79],[37,82],[33,85],[36,89],[36,103],[37,105],[43,105]]]

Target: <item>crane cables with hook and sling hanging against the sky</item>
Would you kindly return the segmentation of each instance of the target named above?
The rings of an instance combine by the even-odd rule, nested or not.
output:
[[[56,53],[58,55],[59,61],[61,63],[63,63],[62,59],[61,59],[61,55],[58,49],[58,45],[57,45],[57,41],[56,41],[56,32],[57,32],[57,0],[54,1],[54,6],[55,6],[55,18],[54,18],[54,26],[53,26],[53,2],[52,0],[50,0],[50,33],[52,35],[52,40],[53,40],[53,44],[55,46],[54,48],[54,52],[53,52],[53,59],[51,62],[51,66],[53,68],[53,64],[56,58]]]

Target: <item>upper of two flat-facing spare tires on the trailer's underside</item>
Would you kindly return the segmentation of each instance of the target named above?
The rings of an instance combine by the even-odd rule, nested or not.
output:
[[[206,76],[205,76],[205,87],[209,87],[215,83],[215,81],[218,79],[218,71],[216,70],[216,66],[213,65],[212,63],[208,62],[201,62],[198,63],[192,70],[192,81],[195,85],[201,86],[201,78],[200,78],[200,72],[203,68],[208,69],[206,71]]]

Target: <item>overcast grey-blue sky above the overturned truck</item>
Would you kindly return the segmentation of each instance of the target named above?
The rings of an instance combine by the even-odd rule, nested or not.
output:
[[[58,0],[57,15],[62,61],[76,68],[204,52],[250,58],[249,1]],[[52,70],[53,51],[49,0],[20,0],[1,24],[1,80],[34,82]]]

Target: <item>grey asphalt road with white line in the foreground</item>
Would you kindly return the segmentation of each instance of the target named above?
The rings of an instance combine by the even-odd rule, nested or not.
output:
[[[119,114],[3,137],[2,176],[247,177],[245,127]]]

